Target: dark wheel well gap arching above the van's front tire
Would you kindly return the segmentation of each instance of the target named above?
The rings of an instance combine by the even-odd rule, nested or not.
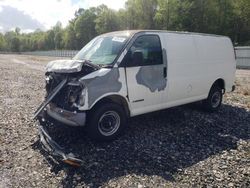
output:
[[[126,101],[126,99],[120,95],[110,95],[110,96],[106,96],[102,99],[100,99],[93,107],[95,108],[97,105],[103,104],[103,103],[116,103],[119,104],[120,106],[123,107],[126,116],[129,117],[130,116],[130,111],[129,111],[129,107],[128,107],[128,103]]]

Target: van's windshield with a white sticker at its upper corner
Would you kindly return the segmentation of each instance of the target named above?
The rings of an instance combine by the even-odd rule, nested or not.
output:
[[[96,65],[113,63],[128,36],[100,36],[91,40],[73,59],[88,60]]]

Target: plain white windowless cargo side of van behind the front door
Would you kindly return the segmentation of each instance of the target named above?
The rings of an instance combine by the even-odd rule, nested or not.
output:
[[[170,106],[206,98],[219,78],[226,90],[232,88],[235,60],[228,38],[167,33],[166,41]]]

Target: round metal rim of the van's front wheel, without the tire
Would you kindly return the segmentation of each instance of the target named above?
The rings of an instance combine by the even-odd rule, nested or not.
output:
[[[115,111],[105,112],[98,122],[98,129],[104,136],[111,136],[120,127],[120,116]]]

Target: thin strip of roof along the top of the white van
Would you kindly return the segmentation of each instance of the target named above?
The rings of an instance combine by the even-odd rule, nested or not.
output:
[[[177,33],[177,34],[186,34],[186,35],[188,34],[188,35],[225,37],[223,35],[208,34],[208,33],[195,33],[195,32],[187,32],[187,31],[168,31],[168,30],[123,30],[123,31],[114,31],[114,32],[110,32],[110,33],[105,33],[103,35],[120,35],[120,34],[133,35],[133,34],[136,34],[136,33],[143,33],[143,32]]]

